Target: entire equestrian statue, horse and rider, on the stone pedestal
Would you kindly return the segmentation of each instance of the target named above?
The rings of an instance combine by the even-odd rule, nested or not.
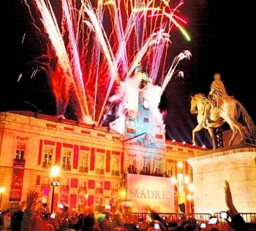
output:
[[[193,144],[197,145],[195,133],[205,128],[211,137],[213,149],[217,149],[214,128],[221,127],[225,122],[233,131],[229,146],[232,146],[238,133],[241,136],[240,142],[244,142],[245,138],[256,136],[256,126],[252,118],[239,101],[233,96],[227,95],[220,74],[214,74],[214,81],[211,83],[211,91],[208,97],[199,93],[191,96],[191,98],[190,112],[197,114],[198,123],[192,130]]]

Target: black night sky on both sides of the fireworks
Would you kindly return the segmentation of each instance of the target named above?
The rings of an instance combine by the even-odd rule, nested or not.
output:
[[[26,13],[20,9],[20,0],[2,0],[1,12],[1,103],[0,111],[29,110],[44,114],[55,112],[55,100],[48,79],[43,71],[33,78],[21,78],[20,72],[28,70],[28,62],[40,52],[37,37],[31,35],[33,43],[21,45],[23,31],[29,24]],[[179,10],[187,17],[187,31],[191,41],[187,42],[178,30],[170,34],[173,57],[183,50],[192,53],[190,60],[182,60],[178,69],[184,78],[172,79],[165,90],[167,105],[166,138],[192,144],[192,129],[197,125],[196,115],[190,114],[190,95],[208,95],[214,74],[219,73],[227,94],[240,101],[252,120],[256,122],[255,109],[255,50],[252,28],[252,3],[242,6],[233,1],[184,1]],[[31,23],[31,22],[30,22]],[[35,46],[34,44],[37,44]],[[25,66],[26,63],[26,66]],[[31,73],[26,73],[31,76]],[[72,118],[72,111],[66,117]],[[224,130],[229,127],[224,126]],[[209,143],[208,133],[202,130],[198,137]],[[211,144],[208,144],[208,146]],[[209,146],[211,148],[211,146]]]

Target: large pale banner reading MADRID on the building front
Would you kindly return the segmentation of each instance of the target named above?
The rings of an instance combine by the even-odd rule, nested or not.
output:
[[[173,213],[174,184],[169,177],[127,174],[127,200],[134,213]]]

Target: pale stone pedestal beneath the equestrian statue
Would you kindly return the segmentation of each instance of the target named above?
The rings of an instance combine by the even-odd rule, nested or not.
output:
[[[255,213],[256,147],[246,144],[202,152],[189,158],[193,168],[195,213],[227,211],[225,180],[240,213]]]

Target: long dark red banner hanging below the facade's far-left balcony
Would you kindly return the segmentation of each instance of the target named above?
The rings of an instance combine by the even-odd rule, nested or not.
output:
[[[10,191],[10,201],[20,201],[23,186],[25,160],[15,159],[13,162],[12,184]]]

